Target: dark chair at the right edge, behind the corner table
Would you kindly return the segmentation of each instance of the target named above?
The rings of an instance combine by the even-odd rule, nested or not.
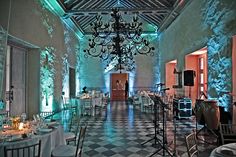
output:
[[[220,123],[220,138],[222,144],[236,142],[236,124]]]

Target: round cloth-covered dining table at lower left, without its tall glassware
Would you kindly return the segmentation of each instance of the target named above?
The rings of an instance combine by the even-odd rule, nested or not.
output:
[[[51,125],[53,124],[53,125]],[[41,157],[50,157],[51,151],[59,146],[65,145],[63,126],[55,122],[47,123],[48,128],[37,128],[37,131],[31,133],[23,130],[4,130],[0,131],[0,157],[4,156],[4,147],[19,147],[30,145],[35,141],[41,140]],[[27,133],[26,133],[27,132]],[[25,135],[25,137],[23,136]]]

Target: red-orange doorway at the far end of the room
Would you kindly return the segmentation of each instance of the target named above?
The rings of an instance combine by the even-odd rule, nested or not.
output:
[[[110,77],[111,100],[124,101],[128,97],[125,95],[125,84],[129,80],[128,73],[113,73]],[[129,82],[128,82],[129,83]]]

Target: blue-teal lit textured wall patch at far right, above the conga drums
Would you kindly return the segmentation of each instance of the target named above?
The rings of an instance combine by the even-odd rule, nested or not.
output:
[[[208,48],[208,97],[218,99],[218,105],[230,110],[231,97],[226,92],[232,90],[232,59],[227,51],[230,31],[227,25],[235,18],[233,9],[223,7],[220,0],[205,0],[203,27],[211,29],[212,35],[207,42]]]

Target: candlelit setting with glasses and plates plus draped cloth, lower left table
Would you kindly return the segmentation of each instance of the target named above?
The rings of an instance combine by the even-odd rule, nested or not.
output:
[[[3,156],[5,146],[41,140],[41,156],[49,157],[53,148],[65,144],[63,127],[57,121],[46,121],[38,115],[31,121],[23,120],[21,116],[9,117],[6,121],[0,130],[0,156]]]

